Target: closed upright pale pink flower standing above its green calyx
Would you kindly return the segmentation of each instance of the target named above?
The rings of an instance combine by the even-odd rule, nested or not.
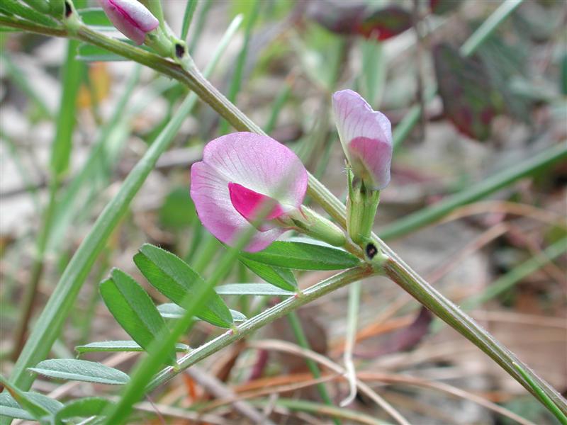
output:
[[[354,176],[366,187],[381,190],[390,183],[392,126],[381,112],[352,90],[332,96],[337,130]]]

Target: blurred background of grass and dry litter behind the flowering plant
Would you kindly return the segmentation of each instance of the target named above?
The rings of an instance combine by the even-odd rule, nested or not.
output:
[[[184,2],[163,4],[179,33]],[[230,21],[242,14],[211,81],[343,199],[344,159],[330,115],[332,92],[356,89],[386,113],[398,126],[398,140],[378,234],[452,300],[464,305],[468,300],[473,317],[564,393],[567,163],[540,166],[537,158],[566,144],[567,10],[562,1],[523,1],[471,49],[469,36],[498,6],[473,0],[203,0],[187,40],[203,68]],[[132,62],[106,61],[116,57],[79,42],[0,31],[0,356],[6,373],[77,246],[187,89]],[[423,111],[421,118],[406,125],[415,108]],[[53,356],[74,357],[73,347],[88,341],[125,339],[101,302],[98,283],[111,266],[144,282],[132,256],[145,242],[181,256],[203,276],[215,269],[224,249],[196,217],[189,169],[201,158],[203,144],[229,131],[208,106],[196,104],[96,261]],[[483,184],[487,190],[468,196]],[[301,288],[327,276],[297,273]],[[259,279],[242,264],[226,277],[231,283],[253,281]],[[150,285],[145,289],[165,301]],[[411,423],[512,423],[481,407],[472,393],[536,424],[556,423],[488,358],[420,313],[395,285],[372,278],[361,291],[357,371]],[[347,295],[339,290],[298,312],[310,346],[338,363]],[[274,302],[265,296],[226,301],[247,317]],[[198,346],[216,333],[203,322],[183,342]],[[251,399],[258,409],[273,409],[274,421],[327,418],[308,404],[321,402],[313,386],[290,387],[314,383],[303,358],[265,346],[250,349],[254,340],[266,338],[296,341],[287,321],[275,322],[160,388],[152,395],[155,410],[170,423],[184,423],[185,412],[211,412],[235,423],[245,420],[242,412],[218,399],[252,397],[275,387],[279,404],[270,404],[269,392]],[[92,353],[89,359],[108,361],[108,354]],[[131,356],[111,360],[123,363],[120,367],[132,363]],[[439,382],[447,385],[441,391]],[[38,380],[35,387],[50,392],[58,385]],[[325,386],[335,404],[347,395],[340,380]],[[65,396],[92,391],[80,387]],[[348,409],[362,416],[343,418],[344,423],[380,414],[362,395]],[[134,420],[157,421],[149,410],[141,409]]]

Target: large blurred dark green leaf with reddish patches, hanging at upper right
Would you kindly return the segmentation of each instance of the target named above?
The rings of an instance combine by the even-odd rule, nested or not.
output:
[[[449,45],[434,47],[433,58],[445,116],[468,137],[488,139],[502,98],[482,62],[462,57]]]

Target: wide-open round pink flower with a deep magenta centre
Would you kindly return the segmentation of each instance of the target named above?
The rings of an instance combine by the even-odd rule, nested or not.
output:
[[[245,250],[264,249],[286,231],[288,214],[301,207],[307,171],[290,149],[271,137],[236,132],[209,142],[191,166],[191,198],[203,225],[225,244],[267,215]]]

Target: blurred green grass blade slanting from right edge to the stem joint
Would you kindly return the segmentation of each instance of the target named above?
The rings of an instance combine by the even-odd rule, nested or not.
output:
[[[439,203],[407,215],[400,220],[396,220],[391,225],[388,225],[388,227],[378,232],[378,236],[384,240],[402,237],[416,229],[420,229],[420,227],[430,225],[432,222],[439,220],[461,205],[485,198],[490,195],[490,193],[510,186],[511,183],[523,177],[532,176],[551,164],[566,158],[567,142],[561,142],[558,145],[545,149],[543,152],[533,157],[524,159],[524,161],[519,164],[504,167],[503,171],[500,171],[500,173],[475,183],[464,191],[449,196]]]

